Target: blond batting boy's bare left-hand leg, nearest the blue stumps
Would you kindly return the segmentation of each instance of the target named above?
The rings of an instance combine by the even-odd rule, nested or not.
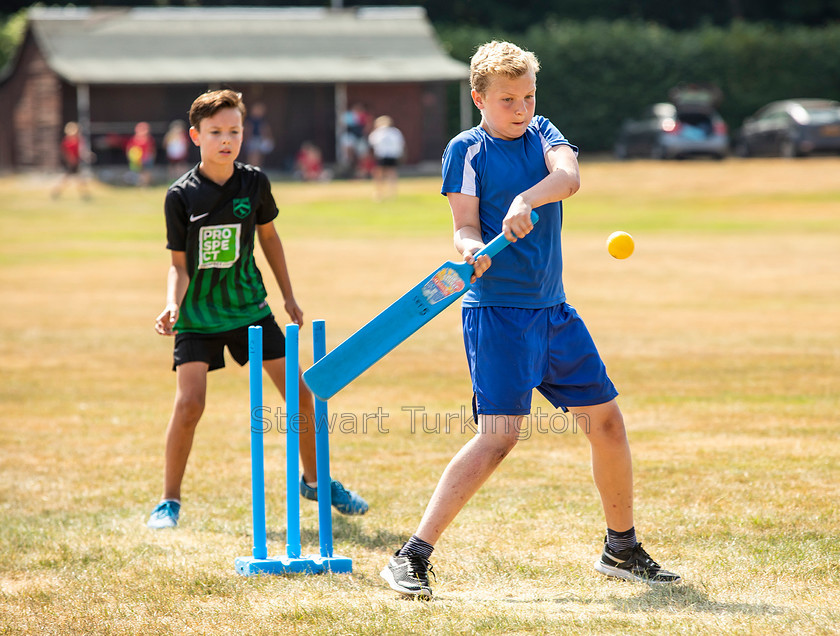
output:
[[[516,445],[522,416],[479,415],[478,422],[478,433],[443,471],[414,533],[431,545]]]

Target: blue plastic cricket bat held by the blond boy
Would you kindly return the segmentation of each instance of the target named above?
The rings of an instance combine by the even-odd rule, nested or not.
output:
[[[539,220],[531,212],[531,221]],[[499,234],[476,252],[493,258],[510,245]],[[306,386],[328,400],[373,366],[386,353],[449,307],[471,287],[473,266],[447,261],[369,323],[330,351],[303,374]]]

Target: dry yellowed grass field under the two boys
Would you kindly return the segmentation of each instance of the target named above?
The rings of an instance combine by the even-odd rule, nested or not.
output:
[[[53,201],[43,178],[6,177],[0,633],[837,633],[840,160],[584,162],[582,175],[567,291],[621,391],[640,538],[682,585],[593,570],[604,527],[588,444],[559,425],[534,426],[444,535],[433,602],[380,580],[470,435],[455,308],[330,403],[333,473],[371,504],[334,516],[352,575],[234,572],[251,550],[247,370],[234,366],[211,375],[180,526],[148,530],[174,391],[172,342],[152,329],[164,189]],[[437,188],[403,181],[374,204],[369,183],[275,184],[297,296],[329,346],[455,257]],[[617,229],[636,238],[626,261],[604,247]],[[268,386],[266,400],[281,404]],[[283,448],[271,431],[270,553],[285,545]],[[315,551],[314,504],[302,518]]]

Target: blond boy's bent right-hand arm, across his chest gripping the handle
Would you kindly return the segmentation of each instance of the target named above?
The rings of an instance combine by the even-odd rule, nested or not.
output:
[[[519,194],[508,208],[502,231],[509,241],[522,238],[534,228],[531,210],[546,203],[568,199],[580,189],[580,170],[574,151],[566,145],[545,153],[548,176]]]

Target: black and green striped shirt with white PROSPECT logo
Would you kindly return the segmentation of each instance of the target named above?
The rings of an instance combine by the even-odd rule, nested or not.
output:
[[[265,174],[235,162],[220,186],[196,166],[169,188],[165,212],[166,247],[186,252],[190,276],[176,330],[218,333],[271,313],[254,261],[257,225],[277,217]]]

